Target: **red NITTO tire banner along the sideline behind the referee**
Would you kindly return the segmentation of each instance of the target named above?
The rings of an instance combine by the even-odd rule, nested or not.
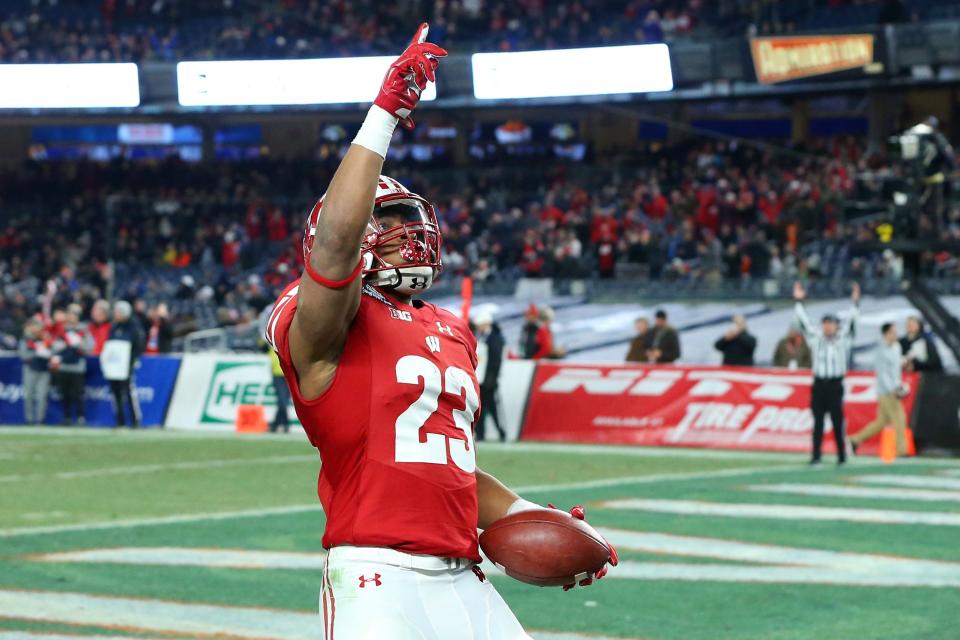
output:
[[[541,363],[521,439],[807,452],[812,380],[802,370]],[[918,380],[904,377],[907,416]],[[847,433],[856,433],[876,416],[876,378],[852,372],[845,387]],[[829,418],[826,431],[833,452]]]

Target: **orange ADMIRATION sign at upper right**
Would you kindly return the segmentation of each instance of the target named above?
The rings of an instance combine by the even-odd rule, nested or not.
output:
[[[870,34],[751,38],[757,81],[763,84],[858,69],[873,62]]]

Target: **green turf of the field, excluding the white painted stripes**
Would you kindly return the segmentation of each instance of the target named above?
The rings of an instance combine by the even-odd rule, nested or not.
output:
[[[643,497],[960,514],[956,502],[830,499],[745,490],[748,485],[780,482],[844,484],[881,468],[883,473],[929,475],[949,462],[881,467],[858,460],[843,470],[811,472],[803,467],[802,456],[791,460],[782,455],[718,456],[707,451],[653,453],[481,445],[479,464],[508,485],[540,487],[525,492],[531,500],[587,504],[591,523],[599,527],[960,563],[958,527],[676,516],[601,505],[605,500]],[[320,580],[312,571],[41,562],[35,556],[111,547],[318,552],[324,522],[318,509],[202,519],[205,514],[315,504],[318,466],[313,450],[297,436],[0,430],[0,592],[74,592],[313,612]],[[571,486],[591,481],[597,482]],[[198,519],[101,526],[191,515]],[[100,528],[9,535],[17,529],[86,523]],[[630,550],[621,556],[651,565],[731,564]],[[957,588],[606,579],[590,589],[562,593],[508,578],[494,581],[528,628],[664,640],[954,637],[954,610],[960,602]],[[16,613],[0,605],[0,630],[69,629],[78,635],[107,631],[18,620]]]

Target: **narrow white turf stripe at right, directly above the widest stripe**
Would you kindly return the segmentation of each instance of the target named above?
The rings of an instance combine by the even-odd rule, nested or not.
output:
[[[754,504],[701,502],[698,500],[609,500],[596,505],[601,509],[623,509],[649,513],[674,513],[722,518],[759,518],[769,520],[826,520],[873,524],[926,524],[960,527],[960,513],[930,511],[891,511],[851,507],[806,507],[793,504]]]

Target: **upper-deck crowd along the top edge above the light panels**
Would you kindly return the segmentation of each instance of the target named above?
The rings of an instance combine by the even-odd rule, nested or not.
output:
[[[790,32],[855,4],[866,21],[925,9],[901,0],[32,0],[2,3],[0,61],[305,58],[390,53],[417,15],[451,50],[510,51]],[[188,10],[187,10],[188,9]]]

